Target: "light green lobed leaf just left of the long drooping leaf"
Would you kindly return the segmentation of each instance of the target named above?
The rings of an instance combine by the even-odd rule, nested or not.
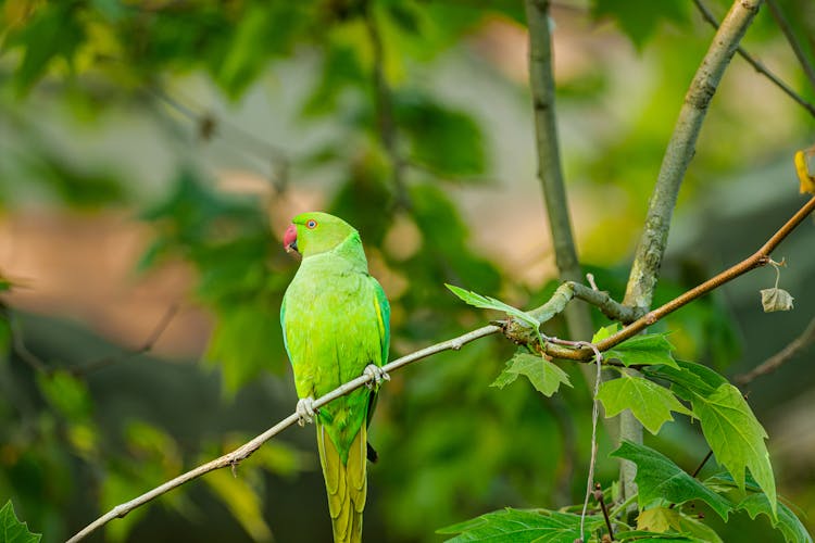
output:
[[[629,409],[654,435],[663,424],[674,420],[670,415],[672,411],[692,415],[690,409],[679,403],[666,388],[648,379],[626,374],[618,379],[605,381],[600,387],[597,397],[603,402],[606,417],[613,417],[624,409]]]

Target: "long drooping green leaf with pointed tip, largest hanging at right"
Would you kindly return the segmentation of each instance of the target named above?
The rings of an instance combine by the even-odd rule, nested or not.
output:
[[[739,389],[724,383],[709,396],[697,394],[691,404],[716,460],[727,468],[742,490],[744,469],[750,468],[751,475],[767,494],[775,517],[778,501],[773,466],[764,444],[767,432]]]

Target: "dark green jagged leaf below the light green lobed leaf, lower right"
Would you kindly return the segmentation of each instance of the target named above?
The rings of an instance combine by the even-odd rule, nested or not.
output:
[[[639,487],[640,508],[654,502],[682,504],[690,500],[702,500],[727,520],[732,504],[693,479],[662,453],[624,441],[611,455],[637,464],[635,482]]]

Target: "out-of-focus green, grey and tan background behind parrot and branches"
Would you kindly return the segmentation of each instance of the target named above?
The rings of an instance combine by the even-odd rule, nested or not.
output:
[[[815,4],[777,4],[812,61]],[[392,306],[391,357],[494,316],[444,282],[519,307],[555,288],[523,2],[0,7],[0,502],[11,497],[43,541],[291,413],[278,314],[298,263],[281,237],[303,211],[361,231]],[[709,8],[720,20],[728,2]],[[561,0],[551,15],[578,252],[622,299],[662,153],[714,30],[686,0]],[[765,9],[743,46],[815,101]],[[734,59],[682,187],[655,304],[754,252],[803,203],[792,155],[814,127]],[[656,329],[672,330],[678,357],[730,377],[756,366],[815,314],[812,236],[807,220],[774,255],[787,258],[780,287],[793,312],[761,312],[758,290],[775,274],[760,269]],[[749,389],[780,493],[810,513],[811,529],[813,352]],[[564,364],[575,387],[552,399],[526,381],[490,388],[511,354],[489,338],[392,376],[371,430],[380,459],[367,541],[440,541],[437,529],[496,508],[581,500],[591,412],[581,374]],[[601,434],[598,480],[610,484],[614,442]],[[684,417],[645,443],[688,470],[707,451]],[[313,428],[289,429],[237,476],[212,472],[91,540],[329,538]],[[755,541],[781,541],[744,514],[724,539],[748,523]]]

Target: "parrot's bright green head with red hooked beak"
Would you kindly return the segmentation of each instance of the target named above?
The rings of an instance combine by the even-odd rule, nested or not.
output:
[[[303,257],[311,256],[335,249],[355,231],[351,225],[328,213],[303,213],[286,228],[283,247],[287,253],[293,251]]]

